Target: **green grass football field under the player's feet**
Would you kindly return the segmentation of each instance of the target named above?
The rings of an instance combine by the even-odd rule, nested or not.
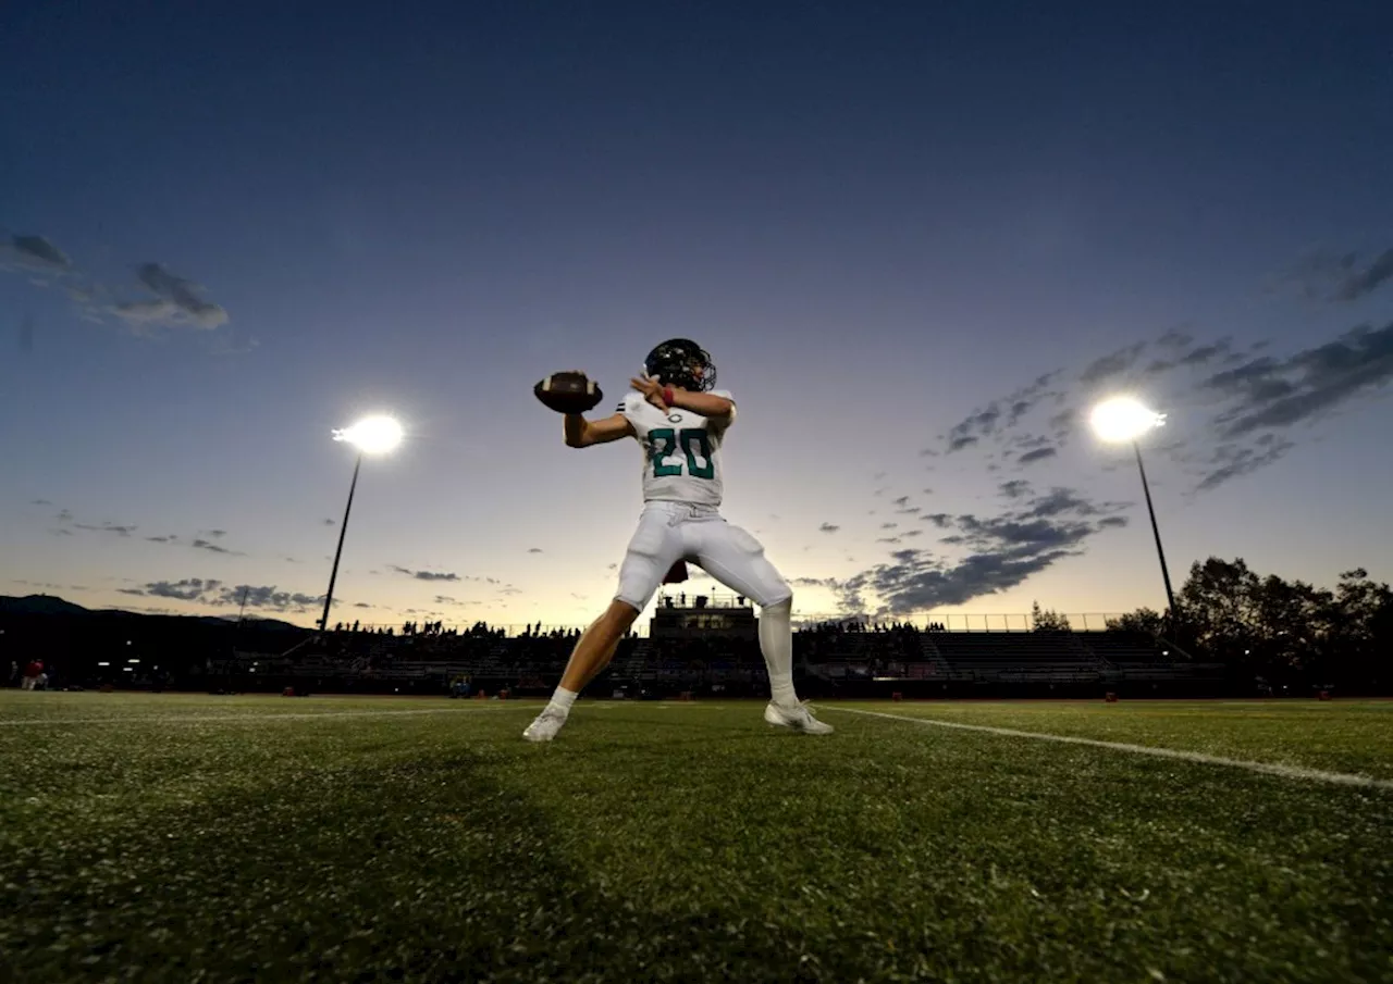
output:
[[[0,692],[0,980],[1393,980],[1393,703],[538,707]]]

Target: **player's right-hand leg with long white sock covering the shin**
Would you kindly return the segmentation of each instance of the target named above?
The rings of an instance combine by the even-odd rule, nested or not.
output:
[[[696,562],[712,578],[759,605],[759,651],[769,671],[765,721],[811,735],[832,725],[812,717],[793,686],[793,589],[765,557],[763,544],[724,519],[690,525]]]

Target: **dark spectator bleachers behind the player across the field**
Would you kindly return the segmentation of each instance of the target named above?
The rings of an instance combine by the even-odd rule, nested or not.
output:
[[[564,671],[578,633],[479,630],[465,635],[334,633],[327,646],[286,654],[213,658],[215,679],[233,690],[294,686],[313,692],[443,693],[465,678],[475,690],[540,696]],[[815,696],[875,697],[1003,693],[1216,681],[1223,667],[1167,653],[1127,632],[924,630],[912,625],[820,625],[794,633],[795,679]],[[683,690],[756,695],[768,688],[758,639],[628,636],[602,686],[637,695]],[[804,685],[800,685],[804,692]],[[1057,692],[1057,690],[1056,690]]]

